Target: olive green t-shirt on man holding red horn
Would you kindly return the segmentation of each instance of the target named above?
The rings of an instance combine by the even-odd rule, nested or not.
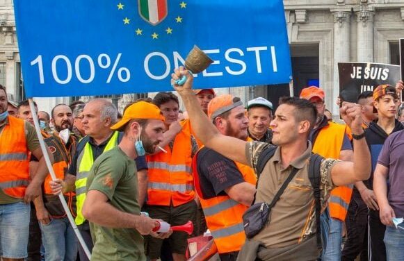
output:
[[[98,190],[122,212],[140,214],[138,177],[133,159],[117,146],[95,160],[87,190]],[[146,260],[143,237],[135,228],[106,228],[90,222],[94,248],[91,260]]]

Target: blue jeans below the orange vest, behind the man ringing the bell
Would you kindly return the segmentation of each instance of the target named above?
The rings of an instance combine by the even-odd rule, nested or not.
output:
[[[342,222],[330,218],[330,234],[328,234],[327,248],[323,260],[341,261]]]

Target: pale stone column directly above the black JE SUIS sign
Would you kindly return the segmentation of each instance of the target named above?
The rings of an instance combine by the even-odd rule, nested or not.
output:
[[[357,62],[373,62],[375,12],[371,8],[361,7],[357,15]]]

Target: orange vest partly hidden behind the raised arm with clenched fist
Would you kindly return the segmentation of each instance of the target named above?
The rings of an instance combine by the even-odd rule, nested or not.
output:
[[[346,126],[329,122],[328,126],[321,128],[316,141],[313,144],[312,151],[324,158],[339,158]],[[352,196],[353,185],[335,187],[331,191],[330,201],[330,217],[339,219],[344,222],[348,212],[350,196]]]

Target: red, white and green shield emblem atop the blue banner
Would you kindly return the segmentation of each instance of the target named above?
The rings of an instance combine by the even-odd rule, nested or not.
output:
[[[140,15],[156,25],[167,16],[167,0],[138,0]]]

